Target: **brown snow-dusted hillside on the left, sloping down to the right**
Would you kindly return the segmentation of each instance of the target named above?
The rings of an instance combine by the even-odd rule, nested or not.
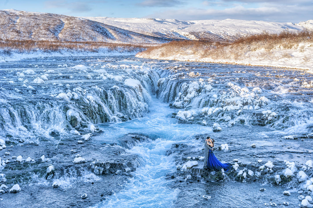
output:
[[[0,10],[0,39],[164,43],[168,39],[128,31],[90,19],[51,13]]]

